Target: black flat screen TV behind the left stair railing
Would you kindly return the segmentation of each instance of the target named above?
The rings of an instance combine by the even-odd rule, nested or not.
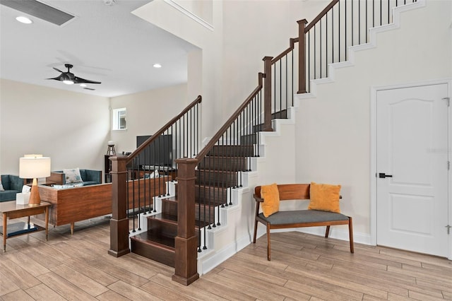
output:
[[[141,146],[149,136],[136,136],[136,147]],[[161,135],[149,146],[145,147],[138,156],[138,165],[172,166],[172,135]]]

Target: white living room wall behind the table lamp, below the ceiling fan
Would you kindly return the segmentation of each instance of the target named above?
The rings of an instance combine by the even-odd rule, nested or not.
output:
[[[18,175],[19,158],[40,153],[52,170],[103,170],[108,98],[0,80],[0,173]]]

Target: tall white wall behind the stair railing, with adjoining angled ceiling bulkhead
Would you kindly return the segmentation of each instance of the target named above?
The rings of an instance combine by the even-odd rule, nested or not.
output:
[[[203,96],[202,136],[206,137],[213,136],[256,88],[262,58],[289,47],[290,37],[297,36],[303,5],[303,1],[213,1],[213,29],[161,0],[133,13],[201,49],[202,73],[189,70],[189,85],[202,83],[196,94]]]

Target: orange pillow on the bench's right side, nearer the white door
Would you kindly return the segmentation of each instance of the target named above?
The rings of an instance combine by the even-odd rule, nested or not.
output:
[[[309,210],[331,211],[340,213],[340,185],[316,184],[311,182]]]

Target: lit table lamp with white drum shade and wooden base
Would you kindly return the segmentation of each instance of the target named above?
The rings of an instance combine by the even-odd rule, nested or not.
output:
[[[23,179],[33,179],[31,186],[30,206],[37,206],[41,203],[40,191],[37,187],[38,177],[50,176],[50,158],[42,155],[23,155],[19,159],[19,177]]]

